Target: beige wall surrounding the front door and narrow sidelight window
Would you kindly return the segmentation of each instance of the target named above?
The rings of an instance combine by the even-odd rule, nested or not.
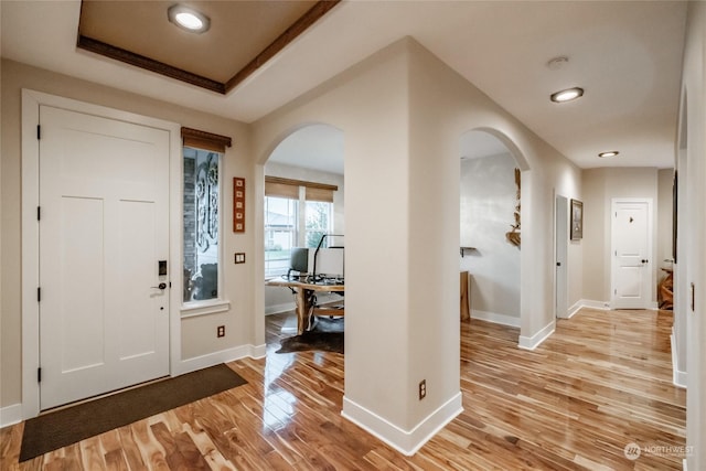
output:
[[[1,227],[1,311],[2,327],[0,342],[0,407],[19,404],[21,392],[21,89],[29,88],[47,94],[68,97],[82,101],[103,105],[120,110],[178,122],[180,125],[231,136],[233,147],[227,149],[224,159],[225,181],[233,176],[253,178],[253,164],[249,158],[249,128],[246,125],[197,113],[179,106],[152,100],[114,88],[78,81],[64,75],[34,68],[11,61],[2,61],[2,214]],[[222,214],[232,213],[232,185],[224,185],[224,207]],[[246,224],[252,227],[253,186],[248,188]],[[227,224],[225,225],[227,227]],[[228,312],[184,320],[182,323],[182,358],[217,352],[238,345],[260,344],[264,338],[255,338],[253,318],[253,279],[243,269],[228,264],[228,254],[246,251],[253,260],[253,231],[244,235],[225,232],[224,237],[224,278],[226,296],[231,299]],[[237,267],[239,268],[239,266]],[[226,325],[226,336],[216,340],[216,325]]]

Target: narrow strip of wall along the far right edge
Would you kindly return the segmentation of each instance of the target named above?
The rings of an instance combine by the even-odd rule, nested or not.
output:
[[[683,277],[680,283],[689,287],[694,283],[694,310],[691,299],[686,300],[687,364],[688,379],[686,393],[686,445],[689,470],[706,469],[706,214],[703,203],[706,201],[706,3],[689,2],[687,17],[686,45],[684,51],[684,71],[682,74],[683,103],[682,120],[685,163],[687,171],[680,170],[680,186],[685,185],[685,197],[680,199],[678,217],[686,222],[684,231],[677,235],[683,249],[677,253],[677,266]],[[684,163],[680,160],[680,164]],[[681,192],[680,192],[681,193]],[[684,211],[683,211],[684,210]],[[681,228],[681,227],[680,227]],[[686,288],[689,290],[689,288]],[[689,292],[689,291],[686,291]],[[688,296],[691,298],[691,296]]]

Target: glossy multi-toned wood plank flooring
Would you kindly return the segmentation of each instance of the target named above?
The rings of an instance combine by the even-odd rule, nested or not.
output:
[[[341,417],[342,355],[275,353],[285,320],[268,317],[266,358],[229,364],[249,384],[23,463],[23,425],[7,427],[0,469],[682,469],[671,312],[584,309],[534,352],[517,349],[517,329],[462,322],[464,411],[414,457]]]

